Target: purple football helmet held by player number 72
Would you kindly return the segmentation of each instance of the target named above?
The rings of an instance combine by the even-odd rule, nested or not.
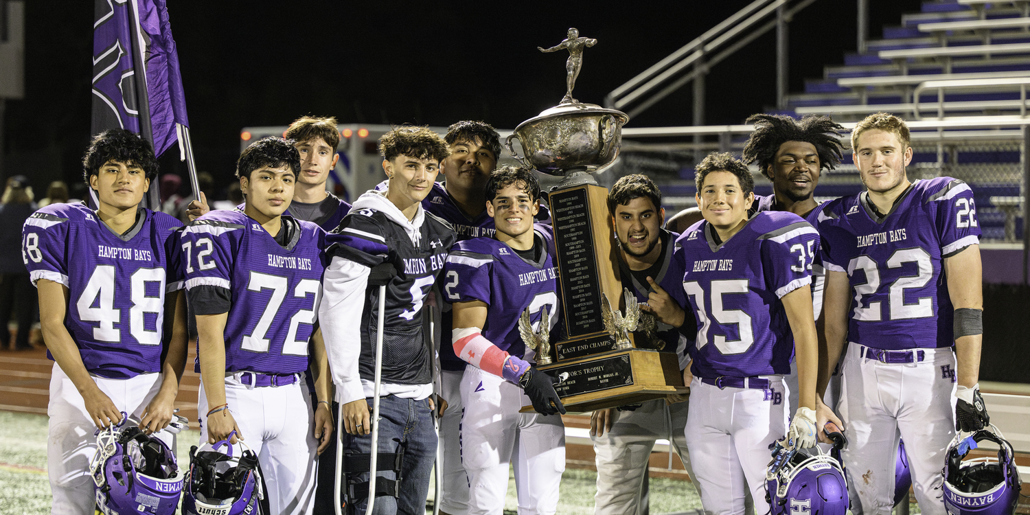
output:
[[[233,432],[235,434],[235,432]],[[229,439],[232,439],[232,434]],[[243,442],[239,455],[233,455],[229,439],[210,446],[190,449],[190,471],[186,472],[182,513],[185,515],[267,515],[258,455]],[[218,449],[226,447],[226,451]]]

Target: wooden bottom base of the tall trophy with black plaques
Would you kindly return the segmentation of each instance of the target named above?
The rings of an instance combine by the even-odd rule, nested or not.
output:
[[[650,349],[615,350],[538,367],[569,379],[554,385],[565,410],[573,413],[615,408],[689,391],[683,385],[675,354]],[[521,413],[531,413],[523,406]]]

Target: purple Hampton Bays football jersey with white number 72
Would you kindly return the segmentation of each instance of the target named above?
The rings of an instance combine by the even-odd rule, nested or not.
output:
[[[285,248],[240,211],[208,212],[182,232],[186,289],[216,286],[232,295],[225,330],[227,372],[308,369],[308,340],[325,271],[325,232],[310,221],[297,224],[300,230]]]

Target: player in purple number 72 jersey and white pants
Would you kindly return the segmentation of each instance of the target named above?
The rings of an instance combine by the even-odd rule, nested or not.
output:
[[[291,143],[269,137],[244,149],[236,169],[244,210],[201,216],[181,243],[197,313],[201,442],[245,440],[259,456],[273,514],[311,511],[314,435],[324,447],[333,433],[317,330],[325,233],[282,215],[301,171]],[[304,379],[309,362],[317,408]]]

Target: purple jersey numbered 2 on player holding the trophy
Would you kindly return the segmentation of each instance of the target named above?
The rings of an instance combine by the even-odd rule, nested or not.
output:
[[[537,263],[523,260],[507,244],[493,238],[460,241],[451,248],[444,267],[444,297],[448,302],[482,301],[487,304],[483,337],[501,350],[526,360],[519,336],[518,320],[526,308],[534,330],[539,329],[547,309],[547,328],[558,320],[557,269],[551,228],[536,224],[534,232],[544,252]]]

